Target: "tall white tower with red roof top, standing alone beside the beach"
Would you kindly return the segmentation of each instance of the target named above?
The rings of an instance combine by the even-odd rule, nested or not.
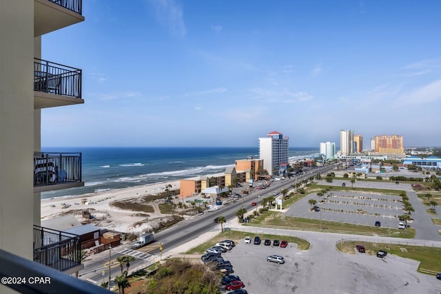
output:
[[[265,138],[259,138],[259,158],[263,159],[263,169],[271,176],[287,172],[289,161],[289,138],[279,132],[271,132]]]

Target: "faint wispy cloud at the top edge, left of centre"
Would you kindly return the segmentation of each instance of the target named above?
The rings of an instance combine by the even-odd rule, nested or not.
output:
[[[156,19],[169,32],[176,36],[185,36],[183,10],[175,0],[150,0],[156,10]]]

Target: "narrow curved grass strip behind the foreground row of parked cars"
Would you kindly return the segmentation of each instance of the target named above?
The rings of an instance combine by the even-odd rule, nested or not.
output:
[[[185,254],[204,254],[205,250],[214,246],[219,241],[226,240],[226,239],[233,240],[236,244],[238,244],[239,242],[243,242],[243,239],[247,235],[254,238],[255,234],[242,232],[242,231],[223,231],[223,232],[220,232],[218,235],[216,235],[216,237],[212,238],[211,240],[204,242],[203,244],[200,244],[192,249],[189,249],[189,251],[185,252]],[[262,242],[265,239],[270,239],[270,240],[277,239],[280,241],[287,240],[289,243],[296,243],[297,248],[301,249],[301,250],[308,250],[309,246],[311,246],[311,244],[309,244],[309,242],[307,242],[307,240],[297,238],[297,237],[286,236],[286,235],[259,234],[259,237],[260,237],[260,239],[262,239]]]

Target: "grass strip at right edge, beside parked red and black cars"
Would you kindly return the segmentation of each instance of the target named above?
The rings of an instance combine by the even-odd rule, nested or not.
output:
[[[355,248],[358,244],[365,246],[366,253],[369,255],[376,255],[378,250],[383,249],[388,254],[419,261],[418,271],[420,269],[427,269],[429,271],[441,272],[441,259],[435,258],[441,255],[441,248],[354,241],[345,242],[344,245],[340,242],[337,244],[337,248],[342,252],[355,253]]]

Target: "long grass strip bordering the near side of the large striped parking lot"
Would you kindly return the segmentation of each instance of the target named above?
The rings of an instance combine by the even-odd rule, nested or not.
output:
[[[260,224],[263,227],[285,227],[289,229],[300,229],[305,231],[320,231],[320,220],[309,218],[295,218],[285,216],[282,218],[280,212],[271,211],[268,214],[260,215],[252,221],[252,224]],[[246,224],[244,224],[246,226]],[[323,232],[341,232],[358,235],[387,235],[396,238],[414,238],[415,229],[405,230],[389,229],[384,227],[363,226],[360,224],[348,224],[345,222],[321,221],[321,231]]]

